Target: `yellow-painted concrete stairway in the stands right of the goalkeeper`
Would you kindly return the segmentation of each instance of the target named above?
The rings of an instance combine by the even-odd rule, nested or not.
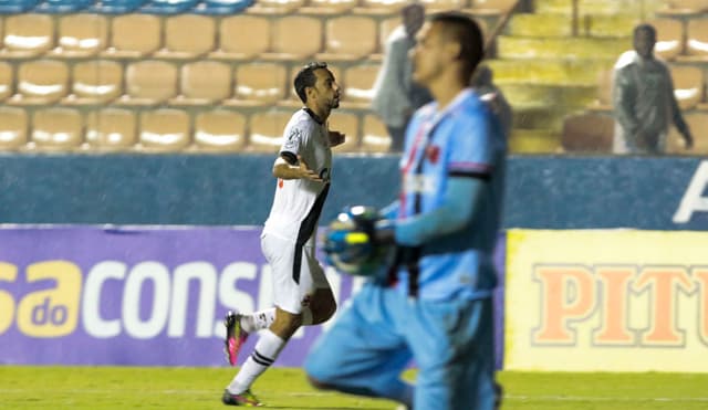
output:
[[[596,99],[598,75],[632,48],[632,30],[660,0],[534,0],[497,39],[494,82],[514,108],[514,153],[559,153],[563,118]]]

